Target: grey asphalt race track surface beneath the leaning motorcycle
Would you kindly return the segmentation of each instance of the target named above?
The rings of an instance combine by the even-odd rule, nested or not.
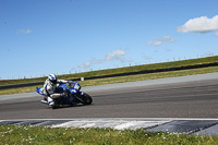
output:
[[[218,118],[218,78],[87,92],[90,106],[52,110],[41,97],[0,101],[0,120],[71,118]]]

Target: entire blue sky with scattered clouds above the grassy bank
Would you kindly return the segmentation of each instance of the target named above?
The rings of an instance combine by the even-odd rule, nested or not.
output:
[[[0,0],[0,80],[218,56],[217,0]]]

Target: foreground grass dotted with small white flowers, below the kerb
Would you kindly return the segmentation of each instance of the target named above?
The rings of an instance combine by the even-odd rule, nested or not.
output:
[[[0,125],[0,145],[5,144],[95,144],[95,145],[205,145],[218,144],[218,136],[196,136],[153,133],[144,130],[45,128],[29,125]]]

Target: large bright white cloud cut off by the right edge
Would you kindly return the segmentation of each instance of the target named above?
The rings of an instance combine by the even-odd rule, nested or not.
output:
[[[180,33],[207,33],[218,29],[218,15],[211,19],[201,16],[189,20],[184,25],[178,26]]]

